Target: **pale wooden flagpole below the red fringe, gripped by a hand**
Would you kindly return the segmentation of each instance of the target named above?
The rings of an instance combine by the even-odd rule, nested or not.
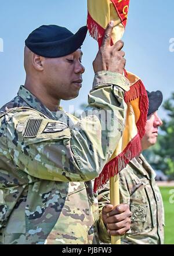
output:
[[[110,200],[114,207],[119,204],[119,174],[110,178]],[[121,244],[121,237],[111,236],[111,244]]]

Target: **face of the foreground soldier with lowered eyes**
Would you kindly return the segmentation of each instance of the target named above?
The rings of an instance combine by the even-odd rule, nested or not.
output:
[[[46,90],[57,99],[73,99],[82,87],[82,51],[60,58],[46,58],[44,62],[44,81]]]

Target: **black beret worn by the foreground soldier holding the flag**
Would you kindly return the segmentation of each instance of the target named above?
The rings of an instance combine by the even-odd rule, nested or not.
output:
[[[25,43],[34,54],[46,58],[57,58],[72,54],[80,48],[86,33],[86,26],[73,34],[66,27],[43,25],[32,31]]]

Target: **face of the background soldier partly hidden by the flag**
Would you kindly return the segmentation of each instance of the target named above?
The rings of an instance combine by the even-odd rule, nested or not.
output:
[[[158,127],[162,125],[162,121],[159,118],[157,111],[152,113],[147,118],[145,134],[142,139],[142,149],[146,150],[151,145],[154,145],[157,142],[158,137]]]

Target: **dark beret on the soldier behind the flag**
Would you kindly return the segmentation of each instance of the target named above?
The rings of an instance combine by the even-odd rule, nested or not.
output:
[[[147,91],[148,95],[148,114],[150,116],[152,113],[158,110],[159,106],[162,103],[162,93],[161,91],[152,91],[151,93]]]

